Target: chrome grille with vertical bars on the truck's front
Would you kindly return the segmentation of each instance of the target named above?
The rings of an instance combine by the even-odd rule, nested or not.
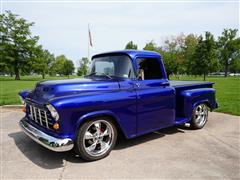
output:
[[[27,106],[29,107],[29,117],[31,120],[47,129],[53,129],[51,115],[47,110],[40,109],[32,104],[27,104]]]

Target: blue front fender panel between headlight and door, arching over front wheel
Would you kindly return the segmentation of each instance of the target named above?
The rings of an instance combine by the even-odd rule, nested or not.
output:
[[[75,138],[76,130],[86,119],[96,116],[112,117],[126,137],[136,135],[135,91],[119,90],[88,93],[50,100],[59,112],[61,131]]]

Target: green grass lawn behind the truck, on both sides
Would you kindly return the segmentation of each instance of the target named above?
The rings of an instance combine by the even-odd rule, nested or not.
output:
[[[46,77],[46,80],[54,79],[67,79],[67,77]],[[179,78],[179,80],[198,81],[202,79],[202,77],[189,76]],[[25,76],[21,77],[20,81],[15,81],[11,77],[0,77],[0,105],[20,104],[18,92],[23,89],[33,89],[38,81],[42,81],[40,76]],[[219,104],[216,111],[240,116],[240,77],[207,77],[207,81],[215,83]]]

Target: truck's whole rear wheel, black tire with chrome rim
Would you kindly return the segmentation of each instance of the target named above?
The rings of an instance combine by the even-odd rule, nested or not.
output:
[[[192,113],[190,127],[192,129],[202,129],[208,120],[208,106],[206,104],[197,105]]]

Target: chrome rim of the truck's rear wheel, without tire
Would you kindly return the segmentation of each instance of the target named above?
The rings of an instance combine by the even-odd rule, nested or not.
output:
[[[198,105],[193,113],[193,119],[198,127],[203,127],[208,118],[208,107],[205,104]]]

